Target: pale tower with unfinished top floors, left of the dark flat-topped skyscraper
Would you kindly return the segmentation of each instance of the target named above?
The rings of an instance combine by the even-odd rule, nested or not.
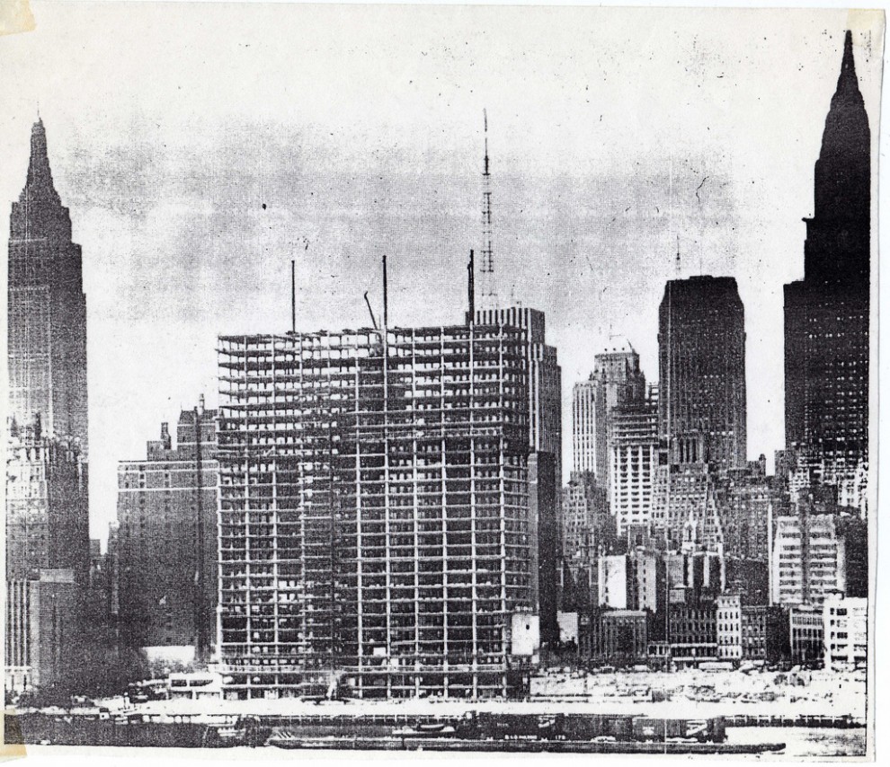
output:
[[[618,405],[610,419],[610,511],[619,536],[652,523],[658,466],[658,392],[645,401]]]

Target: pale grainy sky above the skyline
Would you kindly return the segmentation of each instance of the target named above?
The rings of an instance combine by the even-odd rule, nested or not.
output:
[[[36,31],[0,38],[0,206],[22,189],[39,104],[84,251],[94,536],[115,516],[117,461],[200,393],[216,403],[217,335],[289,329],[291,258],[301,330],[367,325],[383,253],[391,323],[460,321],[484,108],[499,290],[547,313],[565,472],[572,384],[610,333],[657,380],[678,237],[682,277],[739,282],[749,456],[784,445],[782,285],[803,276],[848,27],[877,147],[876,15],[33,10]]]

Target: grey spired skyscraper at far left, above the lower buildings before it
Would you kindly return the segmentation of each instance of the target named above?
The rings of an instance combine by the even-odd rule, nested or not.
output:
[[[40,414],[49,436],[80,440],[85,453],[86,299],[80,245],[52,181],[47,137],[31,128],[31,163],[9,237],[9,389],[19,424]]]

